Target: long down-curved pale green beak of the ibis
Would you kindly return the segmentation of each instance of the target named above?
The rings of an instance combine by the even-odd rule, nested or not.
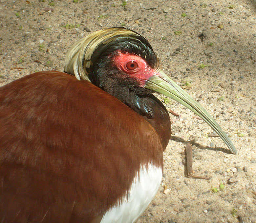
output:
[[[211,126],[211,128],[221,137],[233,154],[237,154],[235,146],[228,138],[227,134],[222,131],[221,127],[213,119],[213,117],[163,71],[158,71],[152,77],[150,77],[146,81],[144,87],[174,99],[193,111]]]

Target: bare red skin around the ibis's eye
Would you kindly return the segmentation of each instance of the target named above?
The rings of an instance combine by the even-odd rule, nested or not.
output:
[[[156,70],[149,67],[145,60],[137,55],[119,52],[113,60],[119,70],[139,81],[139,87],[144,87],[150,77],[157,75]]]

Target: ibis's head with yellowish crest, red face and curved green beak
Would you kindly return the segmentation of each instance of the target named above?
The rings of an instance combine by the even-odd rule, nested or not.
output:
[[[237,154],[233,143],[211,115],[160,70],[159,65],[159,59],[145,38],[119,27],[96,31],[78,41],[67,53],[64,70],[107,92],[115,88],[139,95],[154,91],[174,99],[206,121],[230,151]]]

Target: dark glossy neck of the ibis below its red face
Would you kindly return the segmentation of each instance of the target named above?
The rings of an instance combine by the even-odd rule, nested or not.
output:
[[[120,74],[112,65],[112,57],[103,55],[88,75],[93,84],[129,106],[158,133],[163,150],[171,137],[171,122],[164,105],[152,94],[153,91],[138,87],[138,83],[126,74]]]

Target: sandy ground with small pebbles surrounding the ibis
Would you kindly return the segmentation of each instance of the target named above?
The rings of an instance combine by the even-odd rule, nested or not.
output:
[[[0,84],[36,71],[62,71],[72,44],[113,26],[141,33],[163,70],[188,88],[238,149],[231,155],[220,138],[208,136],[206,123],[165,100],[181,119],[172,125],[159,192],[138,222],[255,223],[256,2],[0,0]],[[186,177],[182,152],[189,140],[195,142],[195,174],[210,180]],[[224,189],[212,193],[221,183]]]

